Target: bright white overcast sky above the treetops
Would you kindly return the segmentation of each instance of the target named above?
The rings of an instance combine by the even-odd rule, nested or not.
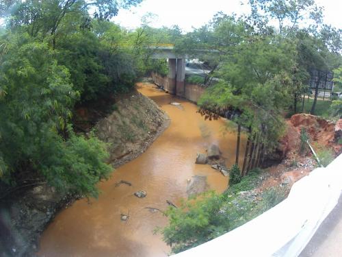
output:
[[[242,0],[246,3],[246,0]],[[342,0],[316,0],[324,7],[324,22],[342,29]],[[150,12],[156,14],[153,27],[179,25],[185,32],[192,27],[207,23],[217,12],[243,14],[248,6],[241,5],[241,0],[144,0],[136,8],[120,10],[114,21],[128,29],[141,24],[142,16]]]

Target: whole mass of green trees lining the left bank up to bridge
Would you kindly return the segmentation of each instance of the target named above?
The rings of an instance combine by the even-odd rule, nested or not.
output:
[[[109,21],[137,3],[1,1],[1,189],[47,180],[60,191],[98,194],[96,182],[112,170],[107,147],[92,133],[75,134],[71,118],[77,105],[127,93],[148,71],[165,72],[148,46],[172,34],[147,24],[128,32]]]

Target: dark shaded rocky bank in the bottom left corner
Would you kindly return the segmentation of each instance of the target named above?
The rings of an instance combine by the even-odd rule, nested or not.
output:
[[[35,256],[44,228],[58,210],[67,208],[75,198],[41,184],[1,201],[0,255]]]

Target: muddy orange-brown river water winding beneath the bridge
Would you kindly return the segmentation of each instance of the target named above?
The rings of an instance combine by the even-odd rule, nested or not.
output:
[[[165,226],[168,218],[145,207],[166,210],[166,200],[179,204],[187,197],[187,180],[194,175],[207,176],[215,191],[226,188],[227,178],[220,172],[209,165],[195,164],[196,153],[205,153],[211,143],[219,145],[227,167],[235,162],[236,135],[224,133],[224,121],[205,121],[196,113],[194,103],[155,86],[140,85],[138,90],[166,111],[170,126],[144,154],[98,184],[102,193],[97,200],[81,199],[62,210],[42,234],[38,256],[167,256],[170,247],[153,230]],[[172,101],[183,108],[170,105]],[[245,138],[241,142],[242,160]],[[120,180],[132,186],[115,186]],[[146,191],[145,198],[133,195],[140,190]],[[127,222],[120,220],[121,214],[129,215]]]

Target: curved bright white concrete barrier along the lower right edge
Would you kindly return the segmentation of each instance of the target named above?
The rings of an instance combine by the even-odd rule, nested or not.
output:
[[[298,256],[342,191],[342,154],[293,184],[274,208],[207,243],[174,256]]]

